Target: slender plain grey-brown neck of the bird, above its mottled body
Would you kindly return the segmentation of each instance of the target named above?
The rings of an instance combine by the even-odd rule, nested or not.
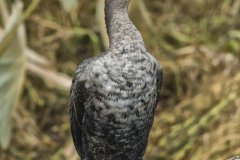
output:
[[[110,49],[123,46],[139,46],[145,48],[143,39],[128,16],[128,9],[105,7],[105,20],[110,41]]]

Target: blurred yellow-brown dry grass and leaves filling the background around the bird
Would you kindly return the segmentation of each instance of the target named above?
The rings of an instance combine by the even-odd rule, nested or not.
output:
[[[67,114],[76,66],[108,46],[104,0],[0,1],[0,159],[76,160]],[[146,160],[240,154],[240,1],[132,0],[164,69]]]

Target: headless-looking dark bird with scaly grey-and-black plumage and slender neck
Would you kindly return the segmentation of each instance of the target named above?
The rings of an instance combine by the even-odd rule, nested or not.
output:
[[[105,0],[109,48],[75,71],[69,98],[72,139],[82,160],[142,160],[163,81],[128,16],[130,0]]]

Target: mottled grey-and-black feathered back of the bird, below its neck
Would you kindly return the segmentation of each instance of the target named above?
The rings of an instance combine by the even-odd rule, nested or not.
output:
[[[123,53],[83,66],[72,88],[72,94],[82,96],[74,102],[83,108],[83,115],[75,117],[81,121],[76,131],[81,132],[80,154],[93,160],[141,159],[157,103],[159,65],[148,53]],[[83,91],[85,99],[78,93]]]

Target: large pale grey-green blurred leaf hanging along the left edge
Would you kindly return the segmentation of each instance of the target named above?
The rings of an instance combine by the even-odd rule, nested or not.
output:
[[[0,2],[3,6],[4,3]],[[7,10],[2,13],[8,17]],[[6,25],[5,32],[2,33],[0,46],[7,45],[2,49],[0,59],[0,144],[3,148],[8,147],[11,138],[11,113],[12,108],[18,103],[20,92],[23,86],[25,72],[24,56],[24,31],[23,26],[19,27],[14,35],[14,40],[9,44],[4,43],[5,37],[8,37],[22,15],[22,3],[15,4],[13,13]],[[1,54],[0,54],[1,55]]]

